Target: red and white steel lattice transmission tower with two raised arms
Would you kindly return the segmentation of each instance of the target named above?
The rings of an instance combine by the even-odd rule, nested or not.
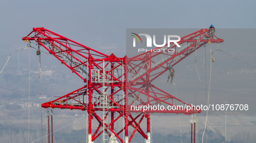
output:
[[[216,37],[216,36],[215,36]],[[40,46],[49,51],[62,64],[78,75],[85,85],[58,99],[43,103],[43,108],[80,109],[88,113],[88,142],[102,135],[103,142],[108,139],[110,143],[130,143],[133,135],[138,132],[150,143],[150,112],[183,113],[191,115],[200,113],[199,109],[187,111],[179,105],[191,106],[181,99],[172,96],[152,84],[156,78],[169,69],[169,65],[175,66],[182,59],[189,56],[196,49],[211,43],[222,43],[224,40],[213,39],[208,36],[208,29],[201,29],[185,37],[178,42],[183,47],[171,44],[157,49],[175,49],[175,53],[151,51],[135,57],[123,58],[113,53],[108,56],[97,50],[86,47],[73,40],[49,31],[45,28],[33,28],[23,40],[35,40]],[[160,59],[160,60],[156,60]],[[159,105],[175,106],[176,110],[131,110],[131,106]],[[92,120],[98,121],[97,129],[92,131]],[[146,131],[143,131],[141,123],[146,119]],[[117,127],[120,121],[123,126]],[[128,134],[129,131],[132,134]],[[124,134],[124,138],[123,138]]]

